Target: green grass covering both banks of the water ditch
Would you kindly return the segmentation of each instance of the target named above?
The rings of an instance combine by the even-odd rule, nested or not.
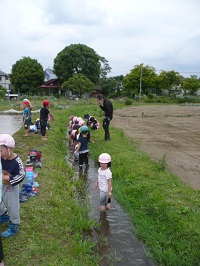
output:
[[[31,149],[41,150],[45,160],[38,168],[40,193],[21,204],[18,235],[3,240],[5,262],[12,266],[99,265],[93,252],[95,243],[85,237],[85,231],[92,230],[95,224],[88,218],[84,202],[79,205],[76,200],[82,184],[73,180],[65,156],[69,116],[89,113],[101,121],[102,113],[91,101],[50,101],[55,122],[51,122],[47,142],[42,143],[38,134],[24,139],[23,129],[14,136],[16,153],[23,161]],[[60,104],[67,108],[59,109]],[[115,102],[114,106],[120,108],[123,104]],[[110,142],[103,141],[102,129],[91,135],[95,141],[90,145],[91,156],[97,161],[102,152],[111,155],[113,194],[129,213],[138,236],[150,247],[158,264],[200,265],[200,192],[168,172],[165,158],[156,163],[138,150],[123,131],[111,127]],[[4,227],[1,225],[1,230]]]

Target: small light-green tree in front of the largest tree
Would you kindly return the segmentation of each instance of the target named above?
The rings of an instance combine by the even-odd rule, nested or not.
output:
[[[87,77],[82,74],[74,74],[62,84],[63,89],[72,91],[73,94],[82,97],[85,92],[90,93],[94,89],[94,83],[92,83]]]

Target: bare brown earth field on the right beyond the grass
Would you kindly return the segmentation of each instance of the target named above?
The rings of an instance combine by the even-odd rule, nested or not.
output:
[[[114,111],[112,126],[124,130],[155,160],[200,190],[200,106],[138,106]]]

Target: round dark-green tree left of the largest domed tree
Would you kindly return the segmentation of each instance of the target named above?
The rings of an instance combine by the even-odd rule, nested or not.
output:
[[[44,82],[43,67],[36,59],[23,57],[12,66],[10,81],[16,92],[35,93]]]

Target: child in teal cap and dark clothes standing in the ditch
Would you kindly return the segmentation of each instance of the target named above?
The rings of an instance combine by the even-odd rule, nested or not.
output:
[[[83,162],[85,162],[86,169],[89,167],[88,164],[88,155],[89,155],[89,149],[88,149],[88,143],[94,143],[90,139],[90,134],[87,126],[80,127],[80,136],[78,138],[78,147],[76,149],[76,153],[79,152],[79,170],[82,171],[83,169]]]

